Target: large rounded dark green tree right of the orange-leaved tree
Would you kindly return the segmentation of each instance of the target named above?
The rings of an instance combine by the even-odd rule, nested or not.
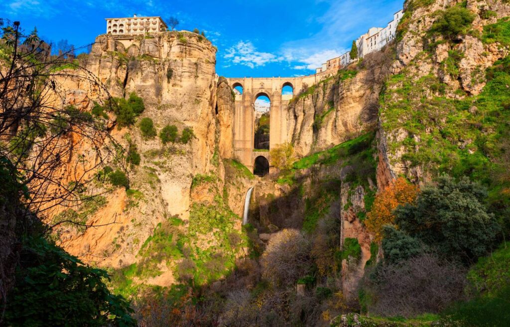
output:
[[[483,205],[486,197],[467,177],[456,182],[445,174],[424,187],[415,203],[395,209],[395,223],[439,254],[469,263],[487,254],[500,231]]]

